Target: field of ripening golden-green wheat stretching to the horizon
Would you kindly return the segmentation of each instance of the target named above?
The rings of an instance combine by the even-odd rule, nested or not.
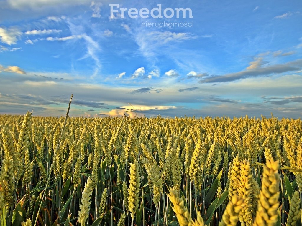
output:
[[[301,224],[302,121],[0,116],[0,225]]]

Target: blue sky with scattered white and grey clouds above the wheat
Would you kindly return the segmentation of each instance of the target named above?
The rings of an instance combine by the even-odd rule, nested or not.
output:
[[[0,0],[0,114],[299,118],[301,50],[300,0]]]

